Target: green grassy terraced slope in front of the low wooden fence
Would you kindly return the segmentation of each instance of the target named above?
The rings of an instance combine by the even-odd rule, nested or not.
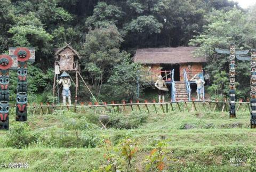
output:
[[[15,134],[14,128],[22,128],[23,125],[11,116],[10,130],[0,132],[0,152],[3,157],[0,163],[28,162],[27,170],[30,171],[98,170],[106,163],[103,158],[105,152],[100,146],[100,140],[105,135],[113,144],[127,137],[136,140],[139,152],[135,155],[134,168],[137,169],[143,169],[141,162],[155,144],[159,140],[166,140],[166,171],[255,170],[256,130],[249,127],[249,112],[241,110],[237,112],[236,119],[230,119],[228,112],[207,109],[201,109],[201,112],[179,112],[177,109],[170,112],[169,107],[168,113],[161,112],[159,107],[157,109],[158,113],[155,113],[150,107],[151,113],[146,121],[133,129],[100,130],[97,119],[102,109],[78,114],[29,115],[28,121],[24,123],[29,126],[29,130],[23,133],[23,137],[29,137],[30,140],[21,149],[16,149],[12,145],[15,142],[10,142],[10,138]],[[142,112],[136,113],[144,111],[143,108]],[[129,116],[129,112],[120,115]],[[234,159],[242,162],[231,163],[230,160]],[[239,166],[235,167],[237,163]]]

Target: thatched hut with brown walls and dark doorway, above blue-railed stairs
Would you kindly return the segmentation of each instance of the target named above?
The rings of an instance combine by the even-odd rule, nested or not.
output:
[[[196,48],[190,46],[138,49],[133,61],[144,64],[145,70],[156,71],[156,76],[174,69],[174,80],[183,80],[183,69],[194,75],[202,72],[203,63],[207,62],[206,57],[194,57]]]

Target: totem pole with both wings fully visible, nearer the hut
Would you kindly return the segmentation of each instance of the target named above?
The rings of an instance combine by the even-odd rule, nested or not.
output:
[[[249,50],[235,50],[235,45],[234,44],[230,44],[230,48],[228,49],[223,49],[223,48],[215,48],[215,51],[217,51],[217,53],[220,54],[230,54],[229,55],[229,117],[230,118],[235,118],[236,117],[236,103],[235,103],[235,89],[236,89],[236,85],[235,85],[235,75],[236,75],[236,69],[235,69],[235,58],[236,55],[239,54],[247,54],[249,53]]]

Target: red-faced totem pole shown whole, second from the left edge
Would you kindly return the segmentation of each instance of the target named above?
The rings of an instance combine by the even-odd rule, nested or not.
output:
[[[18,87],[16,99],[16,121],[27,121],[27,61],[35,61],[34,48],[9,48],[9,54],[18,57]]]

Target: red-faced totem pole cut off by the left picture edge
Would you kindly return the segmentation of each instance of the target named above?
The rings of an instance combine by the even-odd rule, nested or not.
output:
[[[0,55],[0,129],[9,129],[9,69],[15,68],[15,56]]]

